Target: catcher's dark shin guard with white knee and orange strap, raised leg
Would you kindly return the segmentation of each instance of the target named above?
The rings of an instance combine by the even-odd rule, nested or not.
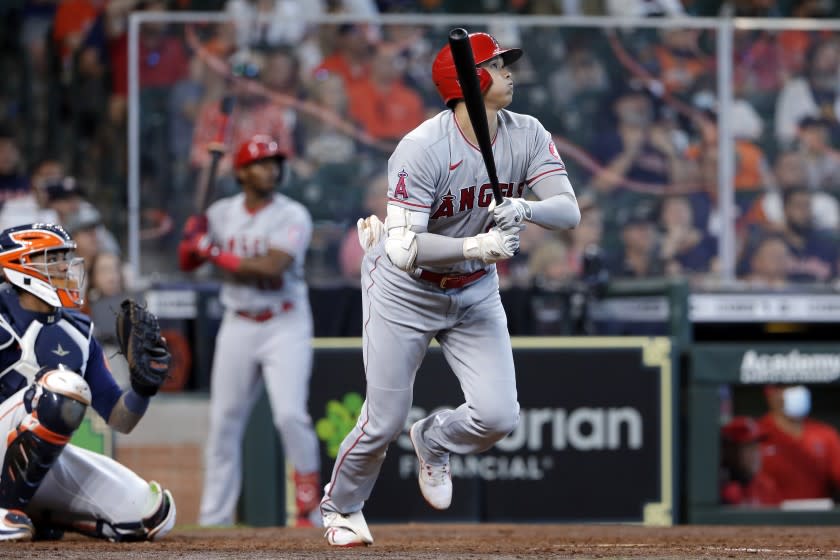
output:
[[[0,507],[23,509],[82,423],[90,388],[77,373],[42,370],[24,393],[28,413],[8,434],[0,472]]]

